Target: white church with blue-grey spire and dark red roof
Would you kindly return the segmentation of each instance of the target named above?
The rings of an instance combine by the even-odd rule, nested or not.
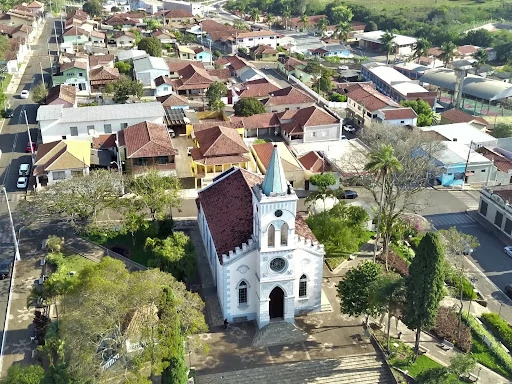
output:
[[[297,213],[277,146],[264,177],[233,167],[201,189],[197,220],[229,322],[320,310],[324,247]]]

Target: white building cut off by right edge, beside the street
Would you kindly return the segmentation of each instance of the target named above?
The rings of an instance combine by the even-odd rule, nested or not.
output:
[[[512,186],[483,187],[480,190],[478,213],[512,238]]]

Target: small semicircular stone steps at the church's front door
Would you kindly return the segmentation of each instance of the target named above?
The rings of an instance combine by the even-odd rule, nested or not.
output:
[[[273,321],[259,329],[252,340],[253,347],[270,347],[273,345],[301,343],[309,335],[294,324],[286,321]]]

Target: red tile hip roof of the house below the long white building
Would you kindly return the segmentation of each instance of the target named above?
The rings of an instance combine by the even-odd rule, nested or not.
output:
[[[123,132],[126,157],[129,159],[178,154],[163,124],[144,121],[125,128]]]

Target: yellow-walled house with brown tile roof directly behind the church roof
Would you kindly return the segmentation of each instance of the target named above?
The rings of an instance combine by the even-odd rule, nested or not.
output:
[[[196,188],[210,184],[216,176],[231,167],[247,169],[251,157],[240,134],[232,128],[216,126],[200,131],[194,129],[191,151]]]

